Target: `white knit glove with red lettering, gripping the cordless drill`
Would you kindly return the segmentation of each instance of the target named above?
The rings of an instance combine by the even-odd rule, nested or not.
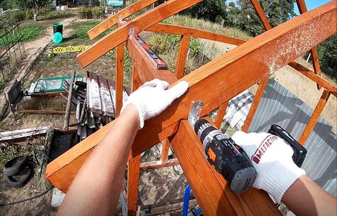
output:
[[[292,160],[293,149],[275,135],[238,131],[232,139],[247,153],[258,173],[253,186],[267,191],[278,203],[296,179],[305,174]]]

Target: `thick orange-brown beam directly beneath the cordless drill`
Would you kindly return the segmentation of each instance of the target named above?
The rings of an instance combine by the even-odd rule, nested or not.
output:
[[[250,188],[235,194],[230,189],[207,162],[202,143],[187,120],[181,121],[171,144],[204,215],[281,215],[265,191]]]

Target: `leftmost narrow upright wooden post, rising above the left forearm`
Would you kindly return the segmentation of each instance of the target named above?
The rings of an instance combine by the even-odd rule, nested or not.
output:
[[[116,118],[123,106],[124,48],[125,43],[116,48]]]

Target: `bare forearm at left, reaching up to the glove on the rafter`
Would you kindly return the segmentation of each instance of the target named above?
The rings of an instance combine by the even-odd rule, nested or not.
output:
[[[112,215],[116,209],[131,145],[139,128],[130,104],[83,164],[58,215]],[[92,135],[94,136],[94,135]]]

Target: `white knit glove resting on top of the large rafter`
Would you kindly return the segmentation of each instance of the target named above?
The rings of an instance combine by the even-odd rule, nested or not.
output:
[[[172,101],[183,95],[189,87],[186,81],[181,81],[172,88],[165,90],[168,85],[167,82],[159,79],[145,82],[130,94],[127,101],[123,104],[121,113],[128,104],[134,104],[139,113],[139,129],[143,128],[145,120],[161,113]]]

